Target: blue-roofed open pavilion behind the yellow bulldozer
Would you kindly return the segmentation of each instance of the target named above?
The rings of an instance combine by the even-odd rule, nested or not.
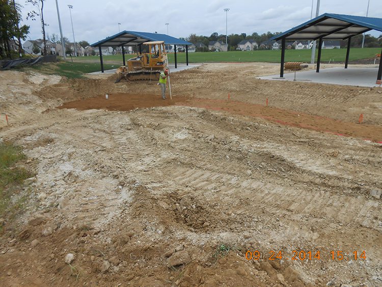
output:
[[[101,62],[101,72],[103,73],[103,59],[101,47],[121,47],[122,48],[122,58],[123,65],[126,65],[125,61],[125,46],[138,46],[140,54],[142,54],[142,44],[149,41],[163,41],[165,44],[174,45],[174,58],[175,58],[175,68],[177,68],[176,59],[176,45],[186,46],[186,65],[188,66],[188,45],[192,43],[171,37],[165,34],[148,33],[148,32],[135,32],[135,31],[122,31],[113,36],[107,37],[101,41],[91,44],[92,47],[99,48],[99,59]]]

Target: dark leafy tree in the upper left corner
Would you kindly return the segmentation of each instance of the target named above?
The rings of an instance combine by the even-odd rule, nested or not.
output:
[[[29,26],[19,27],[20,20],[19,6],[9,0],[0,0],[0,59],[12,58],[9,44],[12,39],[25,40],[28,35]]]

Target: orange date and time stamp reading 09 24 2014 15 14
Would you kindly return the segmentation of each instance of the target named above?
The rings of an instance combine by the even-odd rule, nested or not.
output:
[[[260,251],[245,252],[245,258],[247,260],[336,260],[336,261],[348,261],[348,260],[366,260],[366,251],[352,251],[344,252],[342,250],[333,250],[330,252],[321,252],[320,250],[293,250],[291,253],[281,250],[270,250],[267,254],[262,254]]]

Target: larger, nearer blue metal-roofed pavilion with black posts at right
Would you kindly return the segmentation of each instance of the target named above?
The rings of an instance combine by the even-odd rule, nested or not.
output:
[[[280,77],[284,76],[286,40],[319,40],[317,56],[317,72],[319,72],[322,41],[347,39],[348,42],[345,61],[346,69],[349,61],[351,37],[368,32],[370,30],[377,30],[382,32],[382,18],[325,13],[284,33],[272,37],[270,40],[282,40]],[[377,84],[381,83],[381,76],[382,58],[379,61]]]

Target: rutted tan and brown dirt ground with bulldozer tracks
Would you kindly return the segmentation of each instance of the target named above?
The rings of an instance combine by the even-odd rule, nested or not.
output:
[[[256,79],[278,69],[172,73],[173,100],[1,72],[0,137],[35,176],[0,285],[380,286],[382,89]]]

